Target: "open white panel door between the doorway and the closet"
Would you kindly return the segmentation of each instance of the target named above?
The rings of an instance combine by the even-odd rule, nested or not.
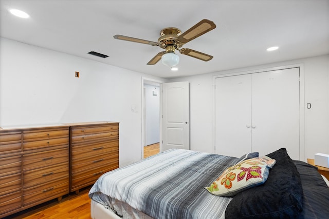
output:
[[[162,84],[162,151],[190,149],[189,82]]]

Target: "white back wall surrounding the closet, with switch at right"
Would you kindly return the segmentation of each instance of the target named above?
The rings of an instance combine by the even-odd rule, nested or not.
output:
[[[172,79],[170,82],[190,82],[191,150],[213,152],[214,75],[300,63],[304,63],[304,160],[318,152],[329,154],[329,55]],[[311,103],[312,109],[306,109],[306,103]]]

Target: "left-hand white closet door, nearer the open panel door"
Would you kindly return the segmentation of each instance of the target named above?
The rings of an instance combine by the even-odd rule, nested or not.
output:
[[[215,79],[215,153],[250,152],[250,74]]]

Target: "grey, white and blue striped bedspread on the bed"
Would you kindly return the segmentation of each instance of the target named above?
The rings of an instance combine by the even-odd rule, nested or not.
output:
[[[103,174],[89,197],[109,208],[115,199],[152,218],[224,218],[231,198],[212,195],[205,187],[236,161],[171,149]]]

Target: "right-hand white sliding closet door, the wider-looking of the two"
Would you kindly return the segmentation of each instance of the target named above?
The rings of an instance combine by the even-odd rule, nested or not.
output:
[[[299,68],[251,74],[252,151],[299,155]]]

